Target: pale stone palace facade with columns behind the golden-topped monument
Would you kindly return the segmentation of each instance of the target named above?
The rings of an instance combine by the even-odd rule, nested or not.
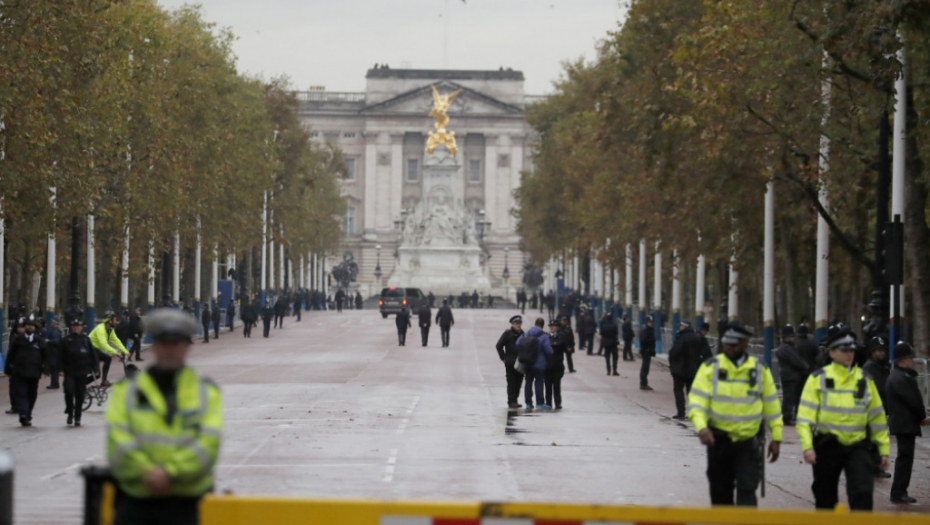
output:
[[[350,252],[359,265],[362,294],[380,293],[394,270],[403,218],[423,197],[424,151],[433,124],[430,86],[461,90],[449,109],[449,129],[455,131],[464,172],[461,198],[475,215],[495,294],[512,297],[525,263],[511,213],[513,191],[521,171],[531,169],[534,134],[524,108],[538,98],[524,94],[523,73],[379,66],[366,79],[364,93],[311,89],[297,94],[301,120],[313,139],[337,146],[346,157],[345,240],[340,253],[330,255],[328,267]],[[379,260],[382,275],[376,279]]]

